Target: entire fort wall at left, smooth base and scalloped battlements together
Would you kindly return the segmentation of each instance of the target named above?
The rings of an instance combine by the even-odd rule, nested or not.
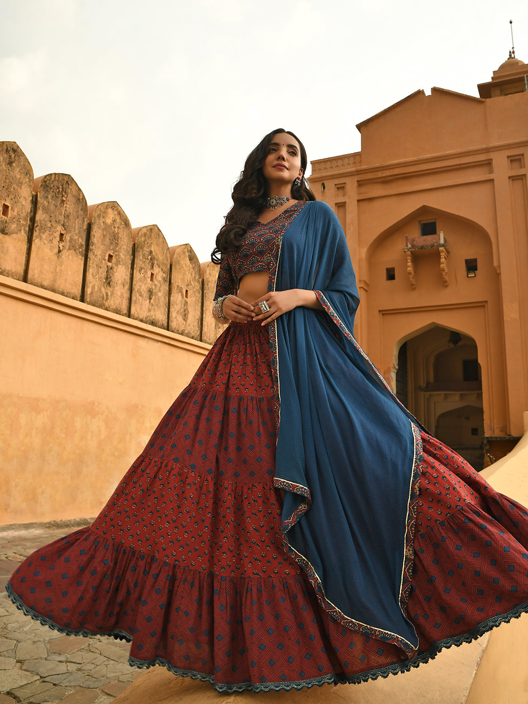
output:
[[[0,524],[99,513],[222,329],[217,271],[0,143]]]

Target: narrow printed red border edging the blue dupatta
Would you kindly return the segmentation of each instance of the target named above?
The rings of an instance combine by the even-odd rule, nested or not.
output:
[[[308,204],[308,203],[307,203]],[[300,212],[301,209],[298,210]],[[297,213],[296,213],[297,214]],[[293,222],[293,218],[291,222]],[[291,225],[291,222],[288,223]],[[277,281],[277,271],[279,269],[279,261],[281,257],[281,252],[282,252],[282,241],[283,241],[283,235],[286,234],[288,227],[284,230],[283,234],[279,234],[277,236],[277,249],[276,249],[276,256],[277,256],[277,261],[275,264],[275,267],[273,267],[272,272],[270,272],[270,279],[268,282],[268,291],[275,291],[275,286],[276,286],[276,281]],[[378,382],[379,386],[382,386],[382,388],[391,396],[391,398],[398,403],[398,406],[401,406],[403,410],[406,411],[406,415],[410,415],[408,410],[403,406],[401,401],[399,401],[398,398],[394,395],[393,391],[391,390],[389,384],[386,383],[385,379],[382,377],[382,375],[379,374],[378,370],[376,369],[375,365],[372,364],[371,360],[368,358],[368,356],[365,354],[363,349],[360,347],[356,339],[353,337],[353,334],[348,330],[346,325],[344,325],[344,322],[339,318],[339,315],[334,311],[332,306],[330,306],[329,302],[327,301],[327,298],[325,298],[324,294],[322,294],[322,291],[314,290],[315,296],[317,296],[318,301],[320,301],[322,308],[325,310],[325,312],[329,315],[329,318],[332,319],[332,322],[334,322],[335,325],[339,328],[339,331],[341,334],[346,337],[348,341],[350,341],[353,346],[356,348],[356,350],[360,353],[360,355],[363,357],[363,360],[365,361],[365,364],[367,367],[373,372],[375,375],[375,379]],[[279,425],[280,425],[280,379],[279,379],[279,358],[278,358],[278,351],[277,351],[277,321],[273,320],[273,322],[269,325],[269,334],[270,334],[270,350],[271,350],[271,355],[272,355],[272,373],[273,373],[273,381],[275,384],[275,413],[276,413],[276,418],[277,418],[277,438],[279,434]],[[413,454],[413,467],[410,472],[410,482],[408,485],[408,500],[407,500],[407,516],[406,516],[406,529],[404,532],[404,537],[403,537],[403,542],[404,542],[404,549],[403,549],[403,563],[401,565],[401,576],[400,576],[400,589],[399,589],[399,594],[398,594],[398,600],[399,600],[399,607],[401,609],[401,612],[403,616],[406,618],[406,608],[407,608],[407,603],[408,603],[408,598],[410,595],[410,590],[411,590],[411,579],[412,579],[412,573],[413,573],[413,562],[414,562],[414,548],[413,548],[413,539],[414,539],[414,533],[415,533],[415,520],[416,520],[416,511],[417,511],[417,499],[419,498],[419,491],[420,491],[420,462],[422,461],[422,439],[420,436],[420,429],[417,427],[416,423],[413,422],[413,420],[410,420],[410,427],[413,433],[413,444],[414,444],[414,454]],[[284,549],[287,551],[288,555],[293,558],[296,563],[301,567],[301,569],[306,573],[308,579],[310,580],[310,584],[312,584],[313,589],[315,591],[315,594],[318,598],[318,602],[322,606],[322,608],[325,609],[329,613],[331,617],[333,617],[335,620],[340,622],[341,624],[344,625],[344,627],[351,629],[351,631],[357,631],[363,635],[366,636],[372,636],[373,638],[379,639],[379,641],[383,641],[385,643],[391,643],[403,650],[403,652],[406,654],[408,659],[412,659],[416,653],[417,653],[417,648],[418,646],[413,646],[410,641],[407,639],[403,638],[403,636],[400,636],[396,633],[393,633],[392,631],[388,631],[385,629],[380,629],[378,627],[370,626],[369,624],[365,624],[363,622],[360,622],[357,619],[353,619],[352,617],[346,615],[337,605],[332,603],[332,601],[329,601],[327,596],[325,595],[325,589],[322,586],[322,580],[320,579],[320,576],[314,569],[313,565],[310,563],[310,561],[306,558],[305,555],[302,555],[301,553],[298,553],[298,551],[295,550],[293,546],[289,543],[287,539],[287,532],[291,527],[298,522],[298,520],[303,517],[303,515],[308,511],[310,508],[310,505],[312,504],[312,498],[310,495],[310,489],[308,486],[304,486],[303,484],[298,484],[294,482],[290,482],[287,479],[282,479],[281,477],[274,477],[274,486],[277,489],[282,489],[282,491],[288,491],[291,492],[292,494],[296,494],[297,496],[302,497],[301,503],[298,505],[296,510],[291,513],[286,518],[283,518],[282,520],[282,542],[284,545]]]

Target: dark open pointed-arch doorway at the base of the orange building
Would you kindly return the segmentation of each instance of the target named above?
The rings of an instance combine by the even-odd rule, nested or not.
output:
[[[482,470],[482,372],[472,337],[433,325],[406,339],[398,349],[396,396],[429,432]]]

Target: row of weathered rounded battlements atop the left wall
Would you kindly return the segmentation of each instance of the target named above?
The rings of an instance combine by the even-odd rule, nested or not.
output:
[[[88,206],[71,176],[34,179],[18,144],[0,142],[1,275],[213,344],[217,273],[157,225],[132,230],[115,201]]]

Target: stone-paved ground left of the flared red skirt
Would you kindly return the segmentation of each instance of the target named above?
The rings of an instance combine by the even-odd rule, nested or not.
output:
[[[128,643],[64,636],[7,596],[6,582],[27,555],[77,527],[0,529],[0,704],[108,704],[142,674],[128,665]]]

